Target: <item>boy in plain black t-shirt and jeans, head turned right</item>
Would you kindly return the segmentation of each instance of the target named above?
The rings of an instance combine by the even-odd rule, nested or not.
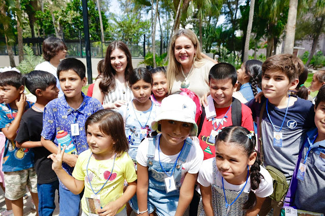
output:
[[[41,132],[44,107],[57,98],[59,89],[56,87],[54,75],[46,71],[31,71],[24,76],[24,81],[26,88],[37,100],[21,117],[15,140],[19,148],[33,148],[39,197],[38,210],[40,215],[52,215],[55,209],[55,190],[59,189],[59,182],[52,170],[52,160],[47,158],[51,153],[42,146]]]

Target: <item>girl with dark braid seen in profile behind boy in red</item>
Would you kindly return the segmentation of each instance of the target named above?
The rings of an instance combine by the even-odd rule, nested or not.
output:
[[[238,92],[247,101],[250,101],[258,92],[262,91],[258,88],[262,81],[262,64],[262,61],[248,60],[237,70],[237,80],[242,84]]]

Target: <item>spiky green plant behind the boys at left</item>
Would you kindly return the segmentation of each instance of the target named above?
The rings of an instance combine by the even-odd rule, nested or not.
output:
[[[24,46],[24,52],[24,60],[20,62],[20,64],[17,66],[17,69],[19,69],[22,74],[27,74],[31,70],[34,70],[36,65],[43,62],[44,59],[42,56],[34,55],[34,51],[27,45]]]

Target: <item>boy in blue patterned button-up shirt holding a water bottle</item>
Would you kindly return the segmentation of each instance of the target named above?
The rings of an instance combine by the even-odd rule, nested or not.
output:
[[[57,132],[67,131],[78,154],[88,149],[84,125],[86,119],[98,110],[102,104],[84,95],[82,87],[86,85],[85,65],[75,59],[67,58],[57,67],[57,77],[64,97],[50,101],[44,109],[42,145],[51,153],[57,153]],[[76,164],[78,155],[64,154],[62,167],[70,175]],[[81,197],[70,192],[62,183],[59,186],[60,215],[79,215]]]

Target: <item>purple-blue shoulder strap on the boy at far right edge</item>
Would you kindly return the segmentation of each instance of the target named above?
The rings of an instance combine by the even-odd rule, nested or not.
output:
[[[288,192],[286,193],[286,195],[284,197],[283,206],[291,206],[294,204],[294,199],[295,199],[295,195],[296,195],[296,191],[297,191],[297,187],[298,187],[297,172],[299,169],[299,164],[300,164],[300,161],[302,158],[302,153],[303,153],[304,148],[305,148],[305,145],[303,145],[303,147],[299,151],[298,161],[297,161],[297,164],[295,167],[293,177],[291,178],[291,181],[290,181],[290,186],[289,186]]]

